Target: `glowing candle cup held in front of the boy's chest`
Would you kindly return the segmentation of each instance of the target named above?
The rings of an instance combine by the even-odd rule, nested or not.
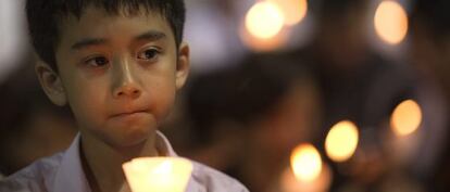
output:
[[[192,164],[178,157],[139,157],[123,169],[133,192],[184,192]]]

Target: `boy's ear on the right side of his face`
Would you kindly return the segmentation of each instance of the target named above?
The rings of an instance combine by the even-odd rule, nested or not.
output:
[[[176,88],[180,89],[189,75],[190,68],[190,51],[186,42],[182,42],[178,49],[178,61],[176,63]]]

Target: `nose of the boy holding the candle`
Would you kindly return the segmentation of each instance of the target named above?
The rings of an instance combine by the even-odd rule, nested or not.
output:
[[[139,98],[142,90],[138,81],[138,74],[133,68],[133,63],[128,61],[116,62],[113,68],[113,97],[116,99]]]

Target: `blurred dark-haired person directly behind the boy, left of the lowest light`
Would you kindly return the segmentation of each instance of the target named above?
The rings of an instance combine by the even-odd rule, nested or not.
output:
[[[302,61],[286,53],[253,54],[236,67],[193,79],[187,114],[191,156],[238,178],[250,191],[279,191],[291,150],[311,141],[320,93]]]

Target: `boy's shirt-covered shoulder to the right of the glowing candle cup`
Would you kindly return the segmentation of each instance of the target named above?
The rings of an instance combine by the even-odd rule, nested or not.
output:
[[[248,192],[238,180],[216,170],[207,165],[191,161],[193,164],[192,181],[197,183],[202,191],[208,192]]]

